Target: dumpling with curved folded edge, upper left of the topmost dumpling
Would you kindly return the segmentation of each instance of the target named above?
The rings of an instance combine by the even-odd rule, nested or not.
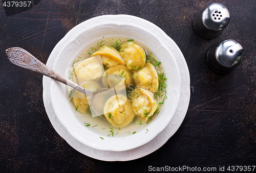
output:
[[[96,55],[100,55],[102,64],[106,68],[110,68],[119,64],[125,64],[119,52],[113,47],[101,47],[98,51],[94,52],[92,56]]]

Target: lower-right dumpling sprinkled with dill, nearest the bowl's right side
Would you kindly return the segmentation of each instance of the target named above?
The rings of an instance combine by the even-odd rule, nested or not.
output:
[[[157,110],[158,103],[154,98],[154,94],[143,88],[136,88],[131,94],[133,98],[133,110],[139,119],[143,122],[147,121]]]

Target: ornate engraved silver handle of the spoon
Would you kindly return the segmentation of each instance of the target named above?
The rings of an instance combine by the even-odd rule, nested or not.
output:
[[[9,61],[14,65],[29,69],[31,71],[35,71],[37,73],[40,73],[42,75],[55,79],[63,84],[66,84],[86,94],[89,97],[91,97],[91,95],[93,94],[93,91],[87,90],[77,85],[76,83],[62,77],[61,75],[59,75],[59,73],[57,73],[53,69],[46,66],[44,63],[36,59],[33,55],[31,55],[28,51],[24,50],[23,48],[20,48],[20,47],[8,48],[6,50],[6,55]]]

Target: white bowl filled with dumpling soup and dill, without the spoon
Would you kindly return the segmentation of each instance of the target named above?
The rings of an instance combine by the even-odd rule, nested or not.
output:
[[[181,82],[174,56],[154,33],[134,24],[105,22],[81,31],[60,50],[53,69],[89,90],[113,90],[102,96],[97,116],[86,95],[51,82],[60,123],[93,149],[141,146],[164,130],[178,107]]]

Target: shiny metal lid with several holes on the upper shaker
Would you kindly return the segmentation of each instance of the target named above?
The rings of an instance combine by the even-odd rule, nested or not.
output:
[[[210,30],[224,29],[230,20],[227,8],[220,3],[212,3],[206,6],[202,13],[202,21]]]

